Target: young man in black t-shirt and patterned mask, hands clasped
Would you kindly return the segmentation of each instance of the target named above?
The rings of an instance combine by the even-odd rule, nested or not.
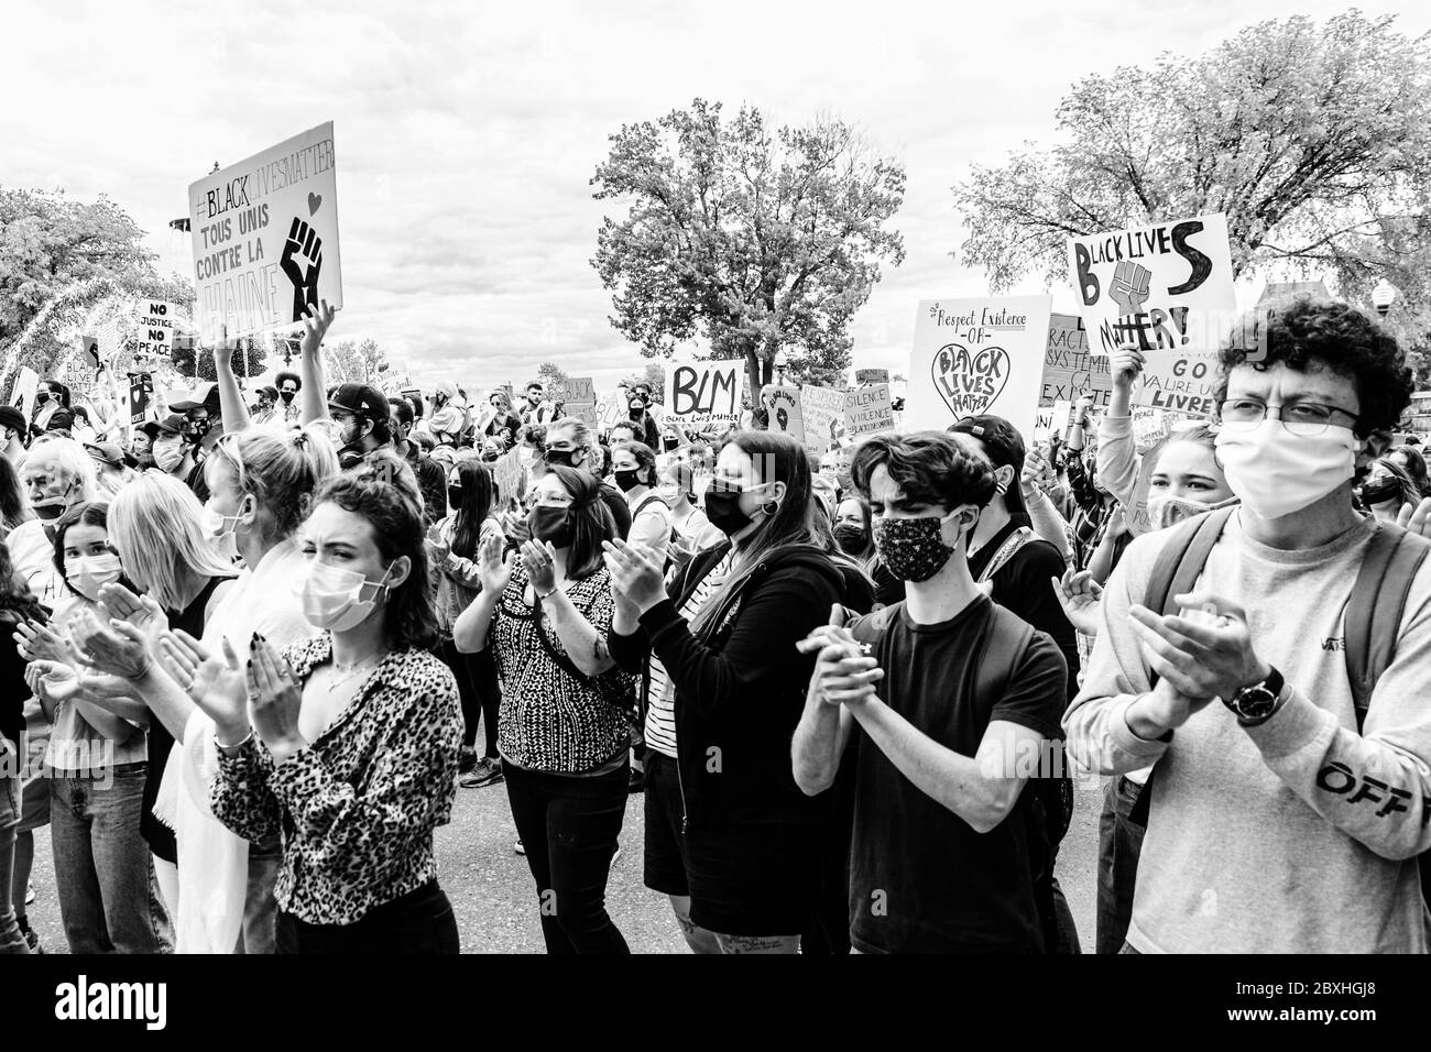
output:
[[[1066,668],[1043,633],[977,587],[964,541],[995,494],[947,434],[876,435],[853,479],[906,601],[831,623],[791,743],[824,792],[859,734],[850,942],[861,952],[1040,952],[1047,843],[1030,777],[1060,771]]]

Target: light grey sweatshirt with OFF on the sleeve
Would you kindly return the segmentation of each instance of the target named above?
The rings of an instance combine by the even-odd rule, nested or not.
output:
[[[1069,751],[1100,773],[1158,764],[1135,949],[1427,952],[1415,856],[1431,847],[1431,560],[1358,734],[1342,613],[1371,531],[1365,520],[1319,548],[1281,551],[1248,537],[1238,514],[1228,521],[1198,587],[1246,610],[1254,648],[1291,686],[1259,727],[1213,701],[1168,743],[1133,736],[1128,707],[1152,687],[1128,611],[1168,534],[1136,538],[1109,578],[1063,723]]]

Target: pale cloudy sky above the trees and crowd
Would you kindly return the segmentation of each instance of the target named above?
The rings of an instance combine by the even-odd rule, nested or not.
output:
[[[949,256],[964,238],[949,187],[970,163],[1047,140],[1079,77],[1345,7],[9,3],[7,37],[23,43],[0,63],[0,185],[107,193],[165,271],[189,273],[189,238],[167,229],[187,185],[332,120],[346,302],[333,339],[373,336],[425,385],[522,384],[555,361],[605,388],[643,364],[590,265],[607,203],[588,180],[607,136],[695,96],[758,104],[771,123],[830,112],[907,167],[894,220],[907,259],[854,329],[857,364],[899,371],[919,299],[985,291]],[[1417,7],[1362,6],[1401,9],[1402,30],[1422,33],[1431,9]]]

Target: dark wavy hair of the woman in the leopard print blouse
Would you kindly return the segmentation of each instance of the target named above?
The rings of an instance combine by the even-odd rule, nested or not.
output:
[[[438,620],[416,495],[406,487],[384,481],[376,472],[353,472],[329,479],[313,498],[313,507],[319,504],[336,504],[368,520],[384,561],[391,564],[408,557],[412,568],[406,580],[388,590],[388,646],[429,650],[438,641]]]

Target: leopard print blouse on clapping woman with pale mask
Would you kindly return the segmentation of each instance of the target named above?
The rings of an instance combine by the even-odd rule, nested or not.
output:
[[[301,683],[332,660],[328,633],[288,648]],[[249,840],[283,840],[279,909],[351,925],[436,879],[432,830],[452,819],[462,711],[425,650],[388,654],[316,741],[275,769],[258,740],[219,751],[215,817]]]

